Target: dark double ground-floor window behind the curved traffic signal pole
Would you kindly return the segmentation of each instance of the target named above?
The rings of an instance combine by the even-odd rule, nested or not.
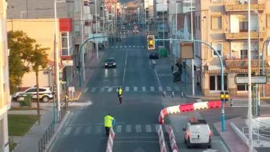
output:
[[[224,76],[224,90],[228,90],[227,76]],[[209,76],[209,89],[212,92],[221,90],[221,76]]]

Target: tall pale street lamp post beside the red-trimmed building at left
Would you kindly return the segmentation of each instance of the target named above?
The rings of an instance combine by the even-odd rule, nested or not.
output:
[[[59,82],[59,48],[58,48],[58,32],[57,32],[57,16],[56,16],[56,3],[73,2],[70,0],[54,1],[54,22],[55,22],[55,45],[56,45],[56,88],[57,88],[57,111],[60,112],[60,82]]]

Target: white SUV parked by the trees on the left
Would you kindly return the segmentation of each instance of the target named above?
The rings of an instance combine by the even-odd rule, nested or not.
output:
[[[16,92],[12,95],[13,99],[16,99],[18,101],[18,96],[20,93],[32,93],[33,94],[33,99],[37,99],[37,87],[31,87],[26,89],[23,92]],[[39,87],[39,98],[43,101],[43,102],[48,102],[49,99],[53,98],[53,94],[50,90],[50,88],[47,87]]]

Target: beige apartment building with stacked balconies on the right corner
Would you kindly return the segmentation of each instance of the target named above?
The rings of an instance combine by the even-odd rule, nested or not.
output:
[[[251,66],[258,74],[258,57],[270,36],[269,0],[251,0]],[[224,90],[232,95],[245,94],[247,85],[235,84],[234,78],[246,75],[248,68],[248,10],[241,0],[195,0],[195,37],[212,45],[224,63]],[[201,63],[198,80],[204,95],[221,90],[220,64],[217,54],[203,44],[195,44],[195,61]],[[269,73],[270,48],[264,51],[265,72]],[[261,65],[261,60],[260,60]],[[196,81],[195,81],[196,83]],[[270,89],[265,85],[265,89]],[[265,91],[269,95],[270,92]]]

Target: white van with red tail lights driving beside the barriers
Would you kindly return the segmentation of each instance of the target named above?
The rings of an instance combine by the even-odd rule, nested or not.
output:
[[[183,131],[184,141],[187,144],[187,148],[191,148],[196,145],[211,148],[212,132],[205,120],[190,117],[189,122],[183,128]]]

